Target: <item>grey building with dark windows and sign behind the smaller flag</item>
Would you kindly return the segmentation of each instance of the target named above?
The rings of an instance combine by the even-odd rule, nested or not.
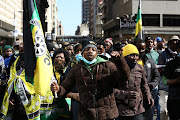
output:
[[[139,0],[102,1],[104,2],[101,12],[105,37],[112,37],[114,41],[134,39]],[[141,0],[144,36],[160,36],[168,39],[171,35],[180,35],[179,6],[179,0]]]

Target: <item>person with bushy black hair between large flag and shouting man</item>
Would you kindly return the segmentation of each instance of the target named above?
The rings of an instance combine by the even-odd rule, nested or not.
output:
[[[57,80],[57,84],[62,83],[68,72],[68,63],[69,63],[69,53],[65,49],[57,49],[54,51],[53,55],[53,66],[54,66],[54,76],[55,79]],[[76,94],[78,95],[78,94]],[[77,98],[76,95],[74,95],[74,98]],[[71,118],[71,114],[69,111],[69,106],[68,106],[68,99],[66,99],[66,96],[63,97],[58,97],[57,105],[56,105],[56,111],[57,111],[57,120],[59,119],[65,119],[69,120]]]

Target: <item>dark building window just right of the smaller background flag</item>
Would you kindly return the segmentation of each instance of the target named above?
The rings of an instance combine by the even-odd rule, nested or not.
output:
[[[160,14],[142,14],[143,26],[160,26]]]

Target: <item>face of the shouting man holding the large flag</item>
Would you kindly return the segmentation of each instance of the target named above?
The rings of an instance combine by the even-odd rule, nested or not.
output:
[[[83,57],[88,60],[88,61],[92,61],[94,60],[94,58],[97,57],[97,50],[94,47],[88,47],[86,49],[84,49],[83,51]]]

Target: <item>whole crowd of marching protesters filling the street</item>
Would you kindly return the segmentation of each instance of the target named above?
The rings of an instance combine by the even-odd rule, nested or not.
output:
[[[53,63],[46,96],[25,77],[23,42],[0,56],[0,119],[179,120],[180,39],[47,43]]]

